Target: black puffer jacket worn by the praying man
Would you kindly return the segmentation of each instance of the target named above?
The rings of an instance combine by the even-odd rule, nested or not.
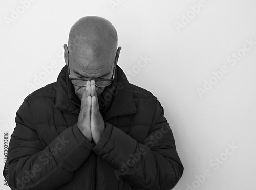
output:
[[[77,127],[80,100],[67,66],[24,100],[9,144],[12,189],[170,189],[183,173],[163,108],[152,93],[117,78],[102,93],[105,132],[90,143]],[[113,90],[114,89],[114,90]]]

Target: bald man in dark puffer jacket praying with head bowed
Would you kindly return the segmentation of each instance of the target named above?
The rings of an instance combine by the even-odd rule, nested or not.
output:
[[[173,188],[183,166],[172,130],[157,98],[117,65],[114,26],[83,17],[64,49],[57,82],[17,111],[6,166],[11,189]]]

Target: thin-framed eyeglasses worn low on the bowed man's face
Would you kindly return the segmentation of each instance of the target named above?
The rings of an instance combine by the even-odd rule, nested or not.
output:
[[[114,68],[114,71],[113,71],[111,79],[98,79],[98,80],[94,80],[95,81],[95,86],[97,86],[97,87],[106,87],[106,86],[109,86],[112,83],[112,81],[114,81],[114,79],[115,79],[115,71],[116,71],[116,64],[117,64],[117,58],[116,57],[115,57],[115,68]],[[75,86],[79,86],[79,87],[86,86],[86,81],[88,81],[88,80],[78,79],[78,78],[71,78],[70,77],[69,52],[68,52],[68,72],[69,72],[69,79],[71,80],[72,84],[74,84]]]

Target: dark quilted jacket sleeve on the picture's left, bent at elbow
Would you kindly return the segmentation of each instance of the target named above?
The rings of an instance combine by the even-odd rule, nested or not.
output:
[[[75,124],[44,148],[27,99],[17,111],[15,122],[8,150],[8,184],[11,189],[50,190],[60,187],[72,179],[74,171],[87,159],[95,145]]]

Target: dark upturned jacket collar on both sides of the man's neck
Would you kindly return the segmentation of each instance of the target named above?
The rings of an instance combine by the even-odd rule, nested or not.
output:
[[[122,69],[117,65],[115,81],[115,90],[106,92],[106,88],[103,93],[109,93],[109,96],[113,96],[113,100],[108,110],[105,113],[105,120],[111,117],[129,115],[137,111],[134,100],[132,89],[129,82],[123,73]],[[108,96],[104,96],[108,97]],[[59,110],[69,111],[72,113],[79,114],[81,101],[75,94],[74,87],[68,78],[68,68],[65,65],[58,78],[56,85],[56,103],[55,107]]]

